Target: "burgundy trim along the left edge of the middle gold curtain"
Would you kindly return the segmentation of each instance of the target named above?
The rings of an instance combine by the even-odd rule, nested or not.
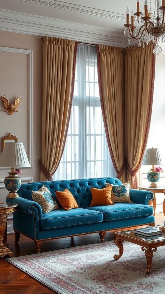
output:
[[[117,166],[116,166],[116,163],[115,163],[115,158],[113,156],[112,147],[111,147],[111,143],[110,143],[110,137],[109,137],[109,134],[108,134],[107,122],[106,122],[106,119],[105,119],[104,103],[103,103],[103,98],[102,98],[101,72],[100,72],[100,52],[99,52],[99,45],[98,44],[96,44],[96,50],[97,50],[97,72],[98,72],[100,103],[101,103],[102,117],[103,117],[103,122],[104,122],[104,127],[105,127],[105,134],[106,134],[106,138],[107,138],[108,148],[109,148],[109,151],[110,151],[110,156],[111,156],[111,159],[112,159],[112,164],[113,164],[113,166],[115,168],[116,173],[118,174],[120,171],[117,170]]]

